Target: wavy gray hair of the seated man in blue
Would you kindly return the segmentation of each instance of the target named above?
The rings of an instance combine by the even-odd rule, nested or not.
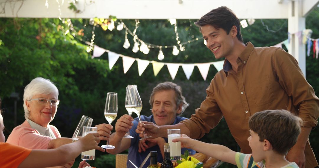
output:
[[[154,95],[157,92],[164,91],[164,90],[173,90],[175,92],[176,107],[182,104],[182,112],[181,112],[182,114],[189,104],[186,102],[185,97],[182,95],[182,88],[173,82],[159,83],[158,85],[155,86],[155,88],[153,88],[153,91],[150,96],[150,101],[149,101],[152,108],[153,108],[153,102],[154,102]]]

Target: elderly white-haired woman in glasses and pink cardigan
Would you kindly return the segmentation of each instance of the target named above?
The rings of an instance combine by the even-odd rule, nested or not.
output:
[[[37,77],[24,89],[23,107],[26,121],[15,127],[7,143],[29,149],[54,149],[71,143],[71,138],[61,137],[58,129],[49,123],[56,115],[59,91],[48,79]],[[96,125],[100,140],[108,140],[113,127],[103,123]],[[72,166],[73,163],[66,165]]]

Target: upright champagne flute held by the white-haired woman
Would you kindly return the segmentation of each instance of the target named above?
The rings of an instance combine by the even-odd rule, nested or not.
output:
[[[117,116],[117,93],[108,93],[106,96],[104,117],[108,120],[108,124],[112,124]],[[104,149],[114,149],[115,146],[110,145],[110,140],[108,140],[107,145],[101,146]]]

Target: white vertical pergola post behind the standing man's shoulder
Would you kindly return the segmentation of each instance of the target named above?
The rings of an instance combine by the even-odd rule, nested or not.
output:
[[[305,28],[306,18],[302,16],[302,0],[290,1],[288,5],[288,32],[291,38],[288,53],[296,58],[302,73],[306,76],[306,46],[301,42],[302,31]]]

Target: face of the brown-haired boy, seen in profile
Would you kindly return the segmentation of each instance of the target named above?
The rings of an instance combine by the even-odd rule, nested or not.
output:
[[[248,137],[249,146],[253,151],[252,156],[255,162],[261,162],[264,160],[263,141],[259,141],[259,136],[256,132],[249,130],[250,136]]]

